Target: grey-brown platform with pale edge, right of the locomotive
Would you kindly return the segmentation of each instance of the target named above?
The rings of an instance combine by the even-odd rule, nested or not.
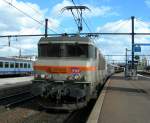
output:
[[[100,94],[87,123],[150,123],[150,77],[125,80],[113,75]]]

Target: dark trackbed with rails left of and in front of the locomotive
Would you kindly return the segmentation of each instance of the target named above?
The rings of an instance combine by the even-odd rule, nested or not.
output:
[[[89,107],[74,112],[41,109],[37,101],[30,91],[1,97],[0,123],[85,123],[90,113]]]

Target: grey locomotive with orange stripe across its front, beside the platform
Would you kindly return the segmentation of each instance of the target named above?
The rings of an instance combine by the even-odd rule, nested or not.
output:
[[[34,70],[32,93],[40,95],[39,103],[67,110],[81,108],[95,98],[114,72],[91,40],[78,35],[42,37]]]

